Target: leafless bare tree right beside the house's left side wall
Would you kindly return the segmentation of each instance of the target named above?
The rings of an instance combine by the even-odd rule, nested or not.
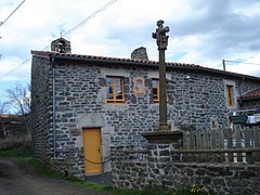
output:
[[[22,115],[27,134],[30,134],[30,84],[23,86],[16,82],[14,87],[6,89],[6,98],[10,107],[16,114]]]

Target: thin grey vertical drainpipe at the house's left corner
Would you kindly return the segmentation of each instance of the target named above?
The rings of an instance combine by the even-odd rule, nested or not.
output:
[[[55,99],[55,75],[56,69],[54,65],[54,58],[51,58],[52,62],[52,130],[53,130],[53,158],[56,158],[56,99]]]

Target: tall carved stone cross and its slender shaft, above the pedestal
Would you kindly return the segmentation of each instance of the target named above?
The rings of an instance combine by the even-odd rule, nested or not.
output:
[[[168,46],[169,36],[166,32],[170,31],[168,26],[164,27],[164,21],[157,22],[156,32],[152,37],[156,39],[159,51],[159,129],[158,131],[169,131],[167,123],[167,99],[166,99],[166,65],[165,65],[165,51]]]

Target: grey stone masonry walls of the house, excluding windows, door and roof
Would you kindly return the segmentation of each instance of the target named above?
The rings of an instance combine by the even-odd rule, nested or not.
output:
[[[106,103],[106,76],[123,77],[126,103]],[[134,78],[144,79],[144,94],[134,93]],[[100,128],[102,160],[106,161],[103,164],[103,172],[109,172],[110,145],[123,143],[145,147],[147,142],[141,133],[158,128],[159,105],[153,102],[153,78],[159,78],[158,67],[50,63],[49,57],[35,55],[31,67],[35,155],[42,160],[53,160],[64,158],[57,153],[64,148],[81,150],[82,153],[82,129]],[[226,106],[224,80],[237,83],[237,91],[240,83],[242,92],[258,86],[235,79],[237,78],[168,68],[167,115],[171,129],[183,126],[197,130],[208,129],[212,121],[219,128],[226,127],[230,108]],[[73,174],[84,174],[83,158],[74,158],[72,164],[78,166],[78,169],[73,169]]]

